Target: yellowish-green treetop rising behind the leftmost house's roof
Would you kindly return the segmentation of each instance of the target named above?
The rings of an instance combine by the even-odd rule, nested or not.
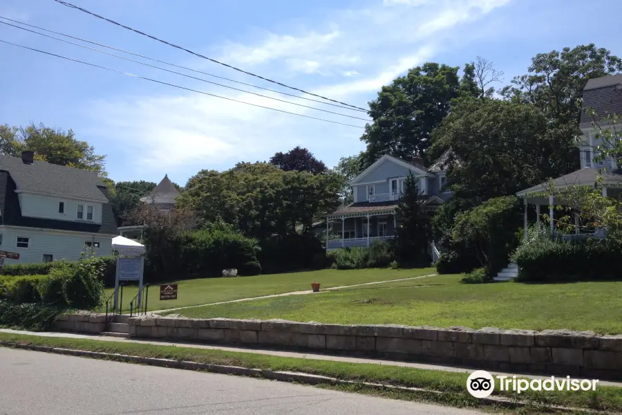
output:
[[[17,128],[4,124],[0,127],[0,151],[19,157],[21,151],[35,151],[35,160],[56,165],[91,170],[99,176],[107,176],[104,168],[106,156],[95,154],[95,147],[77,140],[73,130],[53,129],[42,122],[38,126]]]

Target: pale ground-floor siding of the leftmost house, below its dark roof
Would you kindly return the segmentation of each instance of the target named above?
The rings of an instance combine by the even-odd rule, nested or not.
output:
[[[0,227],[1,250],[18,252],[19,260],[7,259],[7,264],[31,264],[43,261],[44,254],[51,254],[54,260],[66,259],[77,261],[85,250],[85,241],[96,241],[100,248],[95,248],[97,257],[112,254],[112,235],[88,234],[82,232],[54,232],[34,228]],[[17,237],[29,237],[28,248],[17,248]]]

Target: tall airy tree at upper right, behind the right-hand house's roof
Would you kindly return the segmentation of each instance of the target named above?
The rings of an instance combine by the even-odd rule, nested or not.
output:
[[[594,44],[580,45],[538,53],[528,71],[503,89],[505,98],[536,104],[556,126],[578,127],[585,84],[622,71],[622,59]]]

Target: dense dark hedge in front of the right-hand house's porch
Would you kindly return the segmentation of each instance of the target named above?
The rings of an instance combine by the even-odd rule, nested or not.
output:
[[[562,241],[547,232],[533,231],[535,236],[530,235],[512,255],[518,264],[518,281],[621,279],[622,252],[606,239]]]

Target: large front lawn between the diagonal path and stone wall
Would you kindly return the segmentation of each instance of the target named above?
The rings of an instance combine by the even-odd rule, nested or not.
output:
[[[460,275],[190,308],[187,317],[622,333],[622,282],[459,284]]]

